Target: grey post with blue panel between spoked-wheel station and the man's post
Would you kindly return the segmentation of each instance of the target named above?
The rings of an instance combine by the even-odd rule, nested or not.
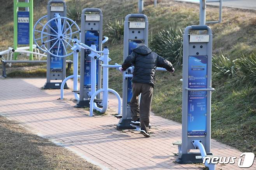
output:
[[[94,12],[96,14],[86,14],[86,12]],[[86,8],[82,10],[81,15],[81,43],[91,46],[96,45],[96,50],[102,50],[102,44],[107,41],[105,39],[102,42],[102,27],[103,27],[103,14],[98,8]],[[91,63],[93,59],[89,56],[90,50],[81,49],[81,62],[80,62],[80,91],[79,100],[77,101],[77,108],[84,108],[90,106],[89,92],[91,92],[91,82],[92,66]],[[96,89],[101,88],[101,67],[99,67],[100,61],[96,59]],[[92,92],[94,93],[94,92]],[[97,95],[98,103],[102,102],[100,95]],[[95,100],[96,101],[96,100]]]

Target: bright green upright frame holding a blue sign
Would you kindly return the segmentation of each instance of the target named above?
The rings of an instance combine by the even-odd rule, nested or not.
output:
[[[33,51],[33,0],[14,2],[14,50],[18,44],[29,44],[29,50]],[[19,11],[19,7],[26,8],[26,11]],[[30,54],[30,60],[33,60],[33,54]],[[14,52],[14,60],[17,60],[17,53]]]

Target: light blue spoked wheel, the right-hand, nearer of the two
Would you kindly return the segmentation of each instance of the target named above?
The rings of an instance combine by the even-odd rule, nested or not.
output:
[[[51,22],[55,22],[57,26],[57,30],[54,30],[51,26]],[[60,24],[61,23],[61,24]],[[68,27],[65,29],[65,27]],[[48,33],[48,30],[51,29],[51,32]],[[75,31],[74,31],[75,30]],[[80,37],[81,31],[79,26],[73,21],[72,19],[69,19],[67,17],[55,17],[53,19],[50,19],[47,21],[46,24],[44,24],[41,37],[40,37],[40,43],[42,44],[40,46],[40,49],[45,50],[47,53],[49,53],[51,56],[54,57],[67,57],[73,54],[73,51],[69,52],[67,51],[68,47],[71,49],[73,46],[70,44],[72,41],[72,37],[75,35],[78,35]],[[52,39],[46,40],[46,36],[51,36]],[[50,47],[47,48],[46,44],[47,42],[54,41],[53,45],[50,45]],[[53,54],[51,50],[53,47],[57,48],[56,54]],[[59,54],[60,49],[63,48],[63,54]]]

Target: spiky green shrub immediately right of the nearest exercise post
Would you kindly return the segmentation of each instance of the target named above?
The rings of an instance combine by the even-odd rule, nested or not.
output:
[[[230,60],[228,57],[212,56],[212,72],[213,76],[220,78],[232,78],[236,74],[235,60]]]

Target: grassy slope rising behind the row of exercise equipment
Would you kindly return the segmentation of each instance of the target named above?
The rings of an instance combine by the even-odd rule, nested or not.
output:
[[[79,0],[77,0],[79,1]],[[77,1],[67,0],[67,3]],[[188,25],[199,23],[199,5],[194,3],[158,0],[155,8],[153,0],[144,0],[144,13],[149,18],[149,43],[154,43],[152,36],[162,29],[179,26],[182,30]],[[5,24],[0,25],[0,49],[12,46],[12,2],[0,0],[6,11],[1,14]],[[34,21],[46,14],[47,0],[34,0]],[[114,19],[122,19],[127,14],[137,13],[135,0],[81,0],[82,9],[95,7],[103,11],[103,23]],[[218,19],[218,7],[207,6],[207,21]],[[79,23],[78,23],[79,24]],[[223,22],[210,25],[213,31],[213,52],[228,54],[236,59],[242,54],[248,56],[256,53],[256,13],[254,10],[244,10],[223,7]],[[105,29],[105,28],[103,28]],[[103,35],[105,35],[103,33]],[[108,35],[105,35],[108,36]],[[110,42],[110,41],[109,41]],[[123,42],[117,45],[107,43],[110,47],[111,64],[123,61]],[[176,68],[173,75],[158,72],[152,109],[154,113],[165,118],[181,122],[182,69]],[[112,69],[109,75],[109,86],[122,93],[122,77]],[[256,152],[256,102],[252,99],[256,87],[233,86],[233,80],[213,78],[212,87],[212,137],[218,141],[234,146],[240,151]]]

